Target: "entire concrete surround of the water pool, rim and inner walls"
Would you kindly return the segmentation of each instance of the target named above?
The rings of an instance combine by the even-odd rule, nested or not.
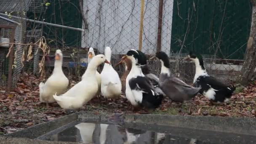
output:
[[[115,116],[113,117],[113,115]],[[113,118],[115,119],[114,121],[111,120]],[[213,139],[213,135],[218,137],[225,135],[225,133],[231,133],[225,139],[232,139],[232,137],[237,135],[243,135],[242,137],[248,137],[248,139],[256,136],[255,118],[134,114],[123,114],[117,117],[117,114],[113,113],[81,111],[1,136],[0,144],[78,144],[75,142],[39,140],[40,137],[43,138],[43,136],[51,135],[53,130],[61,131],[67,124],[77,122],[114,123],[126,128],[133,127],[145,131],[154,131],[156,128],[160,128],[160,132],[164,133],[171,130],[173,136],[177,133],[185,138],[201,135],[205,139]],[[151,126],[149,127],[149,125]],[[208,132],[205,133],[204,131]]]

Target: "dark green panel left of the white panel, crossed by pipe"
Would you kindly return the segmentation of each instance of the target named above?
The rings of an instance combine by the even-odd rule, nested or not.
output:
[[[53,24],[63,24],[64,26],[81,28],[82,16],[79,10],[79,0],[48,0],[51,3],[45,13],[45,21]],[[63,23],[62,23],[63,20]],[[44,35],[49,40],[54,40],[56,47],[64,45],[70,47],[81,46],[81,32],[72,29],[63,29],[59,27],[44,27]]]

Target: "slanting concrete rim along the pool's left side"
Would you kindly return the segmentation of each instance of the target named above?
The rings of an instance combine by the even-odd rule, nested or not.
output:
[[[66,125],[67,123],[70,123],[72,121],[76,121],[78,117],[78,112],[73,113],[71,115],[66,115],[64,117],[56,118],[55,120],[51,120],[45,123],[40,123],[37,125],[34,125],[32,127],[26,128],[21,131],[16,131],[14,133],[5,134],[3,136],[11,136],[11,137],[23,137],[28,139],[35,139],[39,136],[44,135],[45,133],[48,133],[50,131],[53,131],[56,128],[59,128],[63,125]]]

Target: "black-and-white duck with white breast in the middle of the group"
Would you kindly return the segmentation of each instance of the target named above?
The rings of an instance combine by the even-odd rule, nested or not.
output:
[[[146,108],[157,108],[163,99],[163,94],[157,93],[149,79],[145,77],[141,70],[141,56],[138,51],[127,52],[125,59],[132,62],[131,71],[126,77],[125,95],[133,106],[143,106]]]

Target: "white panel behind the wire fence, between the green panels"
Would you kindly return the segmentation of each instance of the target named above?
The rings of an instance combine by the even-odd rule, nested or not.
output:
[[[131,48],[139,48],[141,18],[140,0],[85,0],[88,29],[83,33],[82,47],[98,48],[102,53],[105,46],[112,47],[115,54],[124,54]],[[158,0],[145,0],[143,13],[143,36],[141,51],[147,54],[156,52],[158,32]],[[163,4],[162,47],[170,53],[172,0]]]

